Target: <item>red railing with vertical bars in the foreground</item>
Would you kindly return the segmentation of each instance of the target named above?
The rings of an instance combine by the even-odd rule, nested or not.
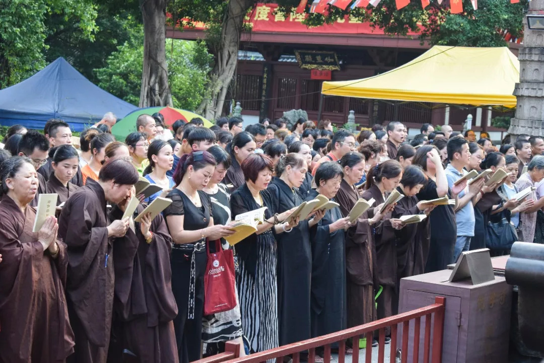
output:
[[[378,362],[384,362],[385,356],[385,329],[391,328],[391,351],[390,363],[395,363],[397,356],[397,325],[402,324],[402,343],[401,343],[401,362],[408,363],[408,347],[410,321],[413,320],[413,345],[412,359],[414,363],[419,360],[419,336],[421,334],[421,318],[425,317],[425,335],[423,341],[423,363],[440,363],[442,361],[442,337],[444,330],[444,309],[446,299],[436,297],[435,303],[424,308],[403,312],[402,314],[374,321],[358,327],[337,331],[336,333],[323,335],[314,339],[308,339],[301,342],[289,344],[286,346],[269,349],[268,351],[258,352],[242,358],[233,356],[232,345],[230,343],[230,352],[222,353],[221,357],[215,355],[211,358],[201,359],[197,363],[220,363],[228,360],[228,363],[261,363],[270,359],[276,359],[277,363],[283,363],[283,357],[290,355],[293,363],[300,363],[300,352],[308,351],[308,363],[314,363],[316,348],[324,347],[324,363],[330,363],[331,345],[338,343],[338,363],[344,363],[345,343],[348,339],[358,342],[360,337],[366,337],[368,347],[372,344],[374,331],[379,331],[378,339]],[[431,319],[434,315],[434,319]],[[432,324],[432,348],[431,348],[431,324]],[[229,344],[229,343],[227,343]],[[213,359],[215,358],[215,359]],[[234,358],[234,359],[233,359]],[[229,360],[230,359],[230,360]],[[365,363],[372,361],[372,349],[366,349],[364,356]],[[429,360],[430,359],[430,360]],[[359,345],[353,345],[353,363],[359,362]]]

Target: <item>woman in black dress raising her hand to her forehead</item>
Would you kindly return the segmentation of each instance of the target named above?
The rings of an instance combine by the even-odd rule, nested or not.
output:
[[[436,147],[424,145],[418,148],[412,164],[421,166],[428,177],[427,184],[416,195],[418,200],[456,197],[448,187],[446,172]],[[454,210],[455,205],[437,205],[429,214],[431,240],[425,272],[446,270],[448,264],[453,262],[453,248],[457,236]]]

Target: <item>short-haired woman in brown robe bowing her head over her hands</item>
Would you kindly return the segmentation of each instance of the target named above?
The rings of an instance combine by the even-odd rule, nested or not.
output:
[[[128,203],[138,178],[131,162],[112,159],[101,168],[98,182],[89,179],[60,213],[59,236],[70,258],[66,300],[76,337],[75,354],[69,362],[106,362],[115,283],[113,243],[135,253],[125,239],[114,241],[113,237],[125,235],[128,218],[110,223],[107,202]],[[122,270],[123,266],[117,267]]]

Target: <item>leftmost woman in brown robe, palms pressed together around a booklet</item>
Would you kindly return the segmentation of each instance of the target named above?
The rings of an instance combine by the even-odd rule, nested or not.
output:
[[[64,284],[68,256],[57,240],[58,224],[48,217],[33,233],[38,190],[30,159],[13,157],[0,166],[0,361],[64,362],[74,340]]]

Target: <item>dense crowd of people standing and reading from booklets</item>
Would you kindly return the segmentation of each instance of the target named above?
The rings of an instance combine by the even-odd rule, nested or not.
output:
[[[469,249],[508,254],[497,226],[544,240],[542,137],[507,136],[497,149],[448,125],[423,124],[409,141],[396,121],[356,134],[288,123],[194,118],[170,132],[162,115],[141,115],[115,140],[107,114],[79,150],[64,121],[43,134],[11,127],[0,150],[0,361],[187,363],[227,341],[261,352],[397,314],[401,278],[444,270]],[[506,177],[488,183],[499,169]],[[491,173],[458,182],[472,170]],[[141,177],[163,190],[136,196]],[[404,197],[386,205],[395,190]],[[34,233],[47,193],[57,214]],[[318,196],[337,204],[289,218]],[[140,205],[123,218],[133,197]],[[135,222],[158,197],[172,203]],[[453,202],[429,202],[442,197]],[[374,202],[350,222],[361,198]],[[235,217],[263,207],[256,233],[230,246]],[[418,214],[427,217],[401,220]],[[205,315],[217,248],[233,249],[236,306]]]

